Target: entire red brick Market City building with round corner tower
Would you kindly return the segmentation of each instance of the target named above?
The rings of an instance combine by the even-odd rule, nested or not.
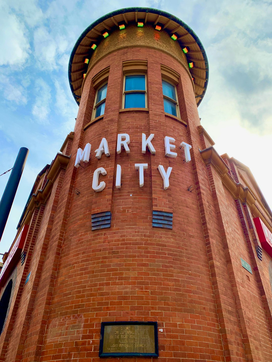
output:
[[[74,132],[4,256],[0,361],[98,362],[101,323],[119,321],[157,322],[161,362],[272,361],[271,210],[200,125],[208,72],[198,37],[159,10],[79,37]]]

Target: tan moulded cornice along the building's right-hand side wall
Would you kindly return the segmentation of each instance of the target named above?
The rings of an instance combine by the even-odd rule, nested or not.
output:
[[[214,147],[205,148],[200,151],[202,159],[205,165],[212,165],[217,173],[220,175],[223,186],[228,190],[234,199],[239,199],[242,203],[246,202],[250,207],[252,213],[259,217],[268,229],[272,232],[271,221],[263,214],[260,208],[256,204],[256,198],[253,192],[248,187],[244,187],[242,184],[237,183],[228,173],[229,168],[222,159],[221,156],[215,151]]]

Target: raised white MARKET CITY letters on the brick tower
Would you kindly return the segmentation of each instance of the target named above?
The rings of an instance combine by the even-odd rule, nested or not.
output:
[[[152,139],[154,138],[154,134],[146,138],[146,135],[142,133],[142,153],[145,153],[147,151],[147,147],[152,155],[155,155],[156,150],[151,143]],[[173,137],[165,136],[164,137],[164,148],[165,148],[165,156],[175,158],[177,157],[177,153],[174,152],[176,146],[173,144],[176,140]],[[119,133],[117,136],[117,146],[116,146],[116,152],[119,154],[122,151],[122,147],[125,150],[127,154],[130,153],[129,145],[130,143],[130,137],[127,133]],[[184,147],[184,153],[185,153],[185,161],[190,162],[191,155],[190,155],[190,149],[192,146],[186,142],[181,142],[180,148]],[[81,148],[78,148],[77,156],[75,158],[75,167],[79,167],[81,161],[88,163],[90,160],[90,152],[91,152],[91,144],[87,143],[84,150]],[[100,145],[97,150],[95,150],[95,157],[97,159],[100,159],[102,154],[105,154],[107,157],[110,157],[110,150],[108,148],[108,142],[106,138],[102,138]],[[134,165],[135,169],[139,170],[139,184],[140,187],[144,186],[144,169],[148,168],[147,163],[135,163]],[[169,177],[172,171],[172,167],[168,167],[165,171],[164,167],[162,165],[158,165],[158,171],[160,172],[160,175],[162,177],[163,183],[164,183],[164,190],[167,190],[169,187]],[[92,177],[92,189],[96,192],[104,190],[106,187],[105,181],[99,182],[99,175],[102,174],[105,176],[107,174],[106,169],[104,167],[99,167],[94,171],[93,177]],[[116,177],[115,177],[115,187],[120,189],[121,188],[121,165],[116,165]]]

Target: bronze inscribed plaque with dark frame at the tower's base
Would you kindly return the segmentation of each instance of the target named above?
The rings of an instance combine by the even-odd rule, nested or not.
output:
[[[158,357],[157,322],[102,322],[99,357]]]

